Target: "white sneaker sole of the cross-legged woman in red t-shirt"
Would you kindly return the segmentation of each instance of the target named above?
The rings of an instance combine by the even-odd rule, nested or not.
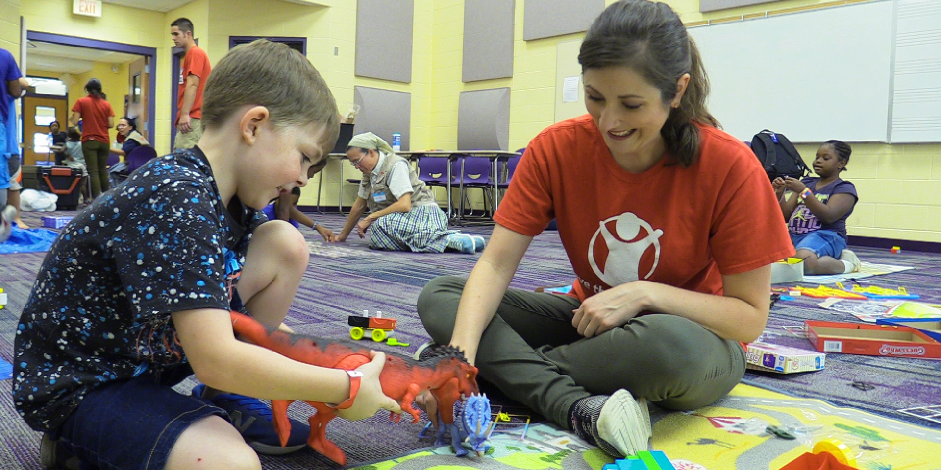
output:
[[[634,399],[622,388],[604,402],[598,416],[598,436],[623,455],[648,450],[652,433],[646,399]]]

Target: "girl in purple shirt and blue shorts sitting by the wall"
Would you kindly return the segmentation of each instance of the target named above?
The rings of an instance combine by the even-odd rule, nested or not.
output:
[[[846,219],[859,197],[850,181],[840,180],[853,149],[828,140],[814,158],[817,178],[778,178],[772,182],[797,258],[804,259],[804,274],[842,274],[859,271],[859,258],[846,249]],[[785,190],[790,197],[785,198]]]

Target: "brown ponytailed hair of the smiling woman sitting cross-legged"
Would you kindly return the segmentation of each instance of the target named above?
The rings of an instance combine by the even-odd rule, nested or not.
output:
[[[677,81],[690,83],[670,110],[661,134],[670,155],[682,166],[699,155],[699,129],[694,121],[719,127],[706,109],[709,79],[702,59],[677,13],[665,3],[620,0],[605,8],[591,25],[579,52],[582,73],[588,69],[628,67],[660,89],[664,105],[677,97]]]

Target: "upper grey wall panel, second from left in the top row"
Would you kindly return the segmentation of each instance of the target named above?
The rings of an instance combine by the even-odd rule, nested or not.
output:
[[[461,81],[513,76],[516,0],[464,1],[464,65]]]

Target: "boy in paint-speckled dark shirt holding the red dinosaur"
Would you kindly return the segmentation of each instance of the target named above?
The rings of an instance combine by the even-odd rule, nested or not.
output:
[[[40,269],[11,362],[14,404],[44,432],[47,467],[258,470],[258,452],[307,445],[298,421],[281,446],[252,397],[341,403],[346,419],[401,412],[379,383],[382,352],[315,367],[232,332],[232,310],[287,328],[309,247],[260,210],[307,184],[335,145],[327,83],[303,55],[259,39],[222,57],[205,103],[198,145],[78,212]],[[194,372],[192,394],[173,390]]]

